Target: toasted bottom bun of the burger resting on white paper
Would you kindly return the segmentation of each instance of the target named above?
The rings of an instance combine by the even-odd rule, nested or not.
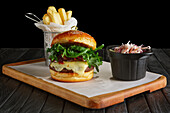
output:
[[[83,75],[77,73],[63,73],[50,69],[51,77],[54,80],[62,82],[81,82],[87,81],[93,78],[93,70],[85,72]]]

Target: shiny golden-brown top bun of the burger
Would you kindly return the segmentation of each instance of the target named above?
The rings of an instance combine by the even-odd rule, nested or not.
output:
[[[78,30],[70,30],[58,34],[54,37],[51,46],[56,43],[78,44],[84,47],[92,48],[93,50],[96,48],[95,39],[91,35]]]

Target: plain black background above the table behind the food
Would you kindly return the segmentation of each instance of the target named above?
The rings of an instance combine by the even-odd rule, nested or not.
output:
[[[4,29],[5,37],[1,38],[2,47],[43,47],[43,32],[24,15],[31,12],[42,19],[48,6],[55,6],[72,10],[72,16],[78,20],[78,30],[92,35],[98,46],[119,45],[130,40],[137,45],[170,48],[167,3],[24,0],[10,4],[2,11],[7,18],[4,23],[9,23]]]

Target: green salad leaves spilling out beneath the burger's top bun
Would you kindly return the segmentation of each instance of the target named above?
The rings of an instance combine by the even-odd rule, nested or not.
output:
[[[99,72],[98,66],[102,65],[103,59],[99,56],[97,51],[103,47],[104,44],[93,50],[92,48],[86,48],[79,45],[71,45],[67,47],[61,44],[54,44],[51,48],[47,49],[47,52],[50,52],[49,59],[51,59],[51,61],[58,61],[57,56],[59,55],[62,57],[66,56],[68,58],[77,58],[82,56],[83,59],[87,61],[89,68],[94,66]]]

